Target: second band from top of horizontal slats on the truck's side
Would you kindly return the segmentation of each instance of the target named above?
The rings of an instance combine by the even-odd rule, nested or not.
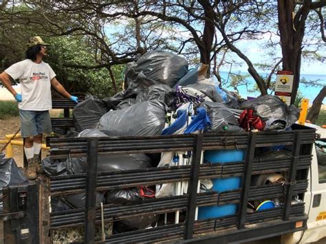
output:
[[[311,155],[302,155],[298,158],[298,169],[309,167]],[[275,160],[254,160],[252,175],[261,173],[274,173],[287,171],[290,168],[290,159],[279,159],[277,168]],[[241,176],[244,163],[234,162],[229,164],[202,164],[199,171],[199,179],[215,179]],[[167,182],[187,181],[190,178],[191,166],[173,166],[170,168],[143,168],[139,170],[123,170],[98,173],[96,190],[113,190],[116,188],[128,188],[134,186],[151,186]],[[85,192],[86,174],[65,175],[51,177],[51,195],[61,195],[67,192]]]

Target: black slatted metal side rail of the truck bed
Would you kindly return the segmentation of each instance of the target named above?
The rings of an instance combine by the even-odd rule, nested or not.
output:
[[[274,230],[293,232],[306,228],[307,217],[303,203],[292,203],[294,195],[303,195],[307,190],[305,174],[298,170],[309,168],[312,159],[312,142],[315,133],[305,126],[294,126],[292,131],[224,133],[204,135],[172,135],[158,137],[98,137],[98,138],[53,138],[50,139],[50,157],[52,159],[69,159],[87,157],[87,172],[78,175],[50,177],[48,179],[49,195],[69,195],[86,192],[85,208],[52,212],[50,229],[67,226],[85,225],[85,242],[94,243],[94,228],[104,221],[131,219],[146,214],[186,212],[182,223],[159,226],[148,230],[138,230],[107,236],[108,243],[146,242],[146,241],[183,241],[202,240],[202,234],[213,234],[221,238],[219,230],[237,228],[235,233],[251,233],[248,228],[257,223],[256,228],[263,228],[276,223]],[[286,145],[292,148],[291,156],[281,159],[259,159],[254,157],[255,148],[263,146]],[[201,152],[206,150],[224,150],[226,148],[243,148],[246,159],[243,162],[229,164],[200,164]],[[166,151],[193,151],[191,166],[174,166],[169,168],[146,168],[142,170],[125,170],[97,172],[97,155],[101,153],[158,153]],[[285,184],[250,186],[251,176],[264,173],[283,172],[287,175]],[[301,175],[298,177],[298,175]],[[302,176],[303,175],[303,176]],[[241,177],[241,188],[226,192],[197,193],[200,179]],[[103,211],[95,206],[96,190],[110,190],[133,186],[149,186],[162,183],[188,181],[188,194],[175,197],[148,199],[141,203],[118,206],[105,204]],[[269,210],[247,212],[248,201],[282,197],[283,205]],[[239,204],[237,214],[216,219],[195,221],[195,209],[198,206],[223,206],[228,203]],[[294,225],[302,221],[303,225]],[[291,230],[290,230],[291,226]],[[297,228],[293,228],[296,226]],[[270,230],[272,231],[272,230]],[[259,235],[259,233],[256,233]],[[261,236],[261,235],[260,235]],[[195,238],[195,239],[193,239]],[[206,237],[205,237],[206,238]],[[213,237],[212,237],[213,238]],[[230,237],[231,238],[231,237]],[[226,239],[224,239],[226,240]],[[243,241],[243,239],[241,240]]]

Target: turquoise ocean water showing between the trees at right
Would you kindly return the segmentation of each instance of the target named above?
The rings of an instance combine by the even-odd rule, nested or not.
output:
[[[236,73],[236,74],[246,75],[248,73],[240,72],[240,73]],[[227,86],[226,80],[228,80],[228,72],[221,71],[221,78],[222,78],[222,80],[224,80],[224,84],[225,84],[223,86],[224,88],[228,89],[229,91],[235,91],[235,89],[233,87],[226,87]],[[326,85],[326,75],[301,74],[301,78],[305,78],[305,80],[307,80],[307,81],[318,80],[318,83],[320,83],[322,85]],[[229,78],[229,80],[230,80],[230,78]],[[248,89],[245,85],[240,85],[237,87],[241,98],[246,99],[248,96],[250,96],[250,97],[259,96],[260,95],[259,91],[248,91],[248,90],[254,89],[254,85],[256,84],[254,79],[250,76],[246,80],[248,81]],[[275,80],[276,80],[276,76],[273,76],[272,81],[275,81]],[[305,86],[303,84],[300,84],[298,91],[300,92],[301,96],[303,96],[303,98],[309,99],[309,104],[312,104],[312,102],[314,101],[314,98],[316,98],[320,89],[322,89],[322,88],[323,87],[321,87],[321,86],[320,87],[312,87],[312,86]],[[274,95],[274,92],[272,94]],[[326,104],[326,98],[324,98],[323,104]]]

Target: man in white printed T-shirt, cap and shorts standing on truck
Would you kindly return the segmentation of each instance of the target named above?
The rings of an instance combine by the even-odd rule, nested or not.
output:
[[[52,109],[51,85],[66,98],[78,102],[56,80],[56,74],[43,58],[47,43],[40,36],[30,38],[25,60],[15,63],[0,74],[0,81],[19,102],[21,135],[25,138],[24,152],[28,159],[28,179],[36,179],[43,133],[52,131],[49,110]],[[11,85],[11,78],[19,79],[21,94]]]

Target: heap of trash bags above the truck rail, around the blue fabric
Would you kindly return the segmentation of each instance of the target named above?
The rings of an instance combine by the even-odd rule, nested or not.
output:
[[[300,110],[277,96],[243,102],[206,78],[207,68],[201,64],[188,70],[181,56],[147,52],[127,64],[123,91],[111,98],[90,97],[74,108],[75,129],[99,129],[109,136],[161,135],[168,111],[175,113],[187,103],[193,106],[191,120],[199,108],[206,111],[210,123],[203,132],[281,131],[298,120]]]

